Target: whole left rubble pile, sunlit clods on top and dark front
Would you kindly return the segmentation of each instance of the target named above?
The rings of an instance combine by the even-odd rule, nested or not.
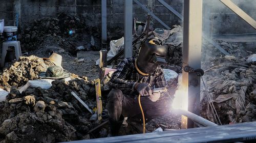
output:
[[[29,87],[22,93],[20,87],[28,80],[38,79],[38,74],[52,65],[36,56],[20,57],[20,61],[4,69],[1,88],[9,91],[0,102],[0,140],[2,142],[60,142],[89,139],[89,130],[97,120],[89,121],[91,113],[71,94],[94,109],[95,85],[75,77],[70,81],[55,80],[48,90]],[[106,97],[106,96],[104,96]],[[103,98],[105,99],[105,98]],[[105,107],[105,100],[102,100]],[[103,119],[104,116],[102,115]],[[106,117],[105,117],[106,118]],[[97,137],[97,134],[95,134]]]

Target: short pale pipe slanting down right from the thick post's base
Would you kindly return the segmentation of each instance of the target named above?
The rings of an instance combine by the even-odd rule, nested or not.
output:
[[[186,111],[186,110],[182,110],[182,109],[175,109],[175,111],[181,113],[182,115],[186,116],[187,118],[207,127],[207,126],[218,126],[217,124],[210,122],[198,115],[196,115],[195,113],[192,113],[190,111]]]

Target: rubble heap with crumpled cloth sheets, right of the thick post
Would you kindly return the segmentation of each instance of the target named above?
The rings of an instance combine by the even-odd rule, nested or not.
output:
[[[201,115],[216,122],[218,117],[211,110],[212,102],[222,124],[256,121],[256,66],[247,61],[250,53],[230,43],[219,41],[219,44],[230,55],[224,56],[212,46],[204,49],[203,79],[213,100],[209,101],[202,83]]]

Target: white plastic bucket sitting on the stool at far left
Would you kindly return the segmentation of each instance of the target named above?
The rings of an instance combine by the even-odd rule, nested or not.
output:
[[[17,40],[17,30],[16,26],[5,26],[4,27],[4,38],[5,41],[16,41]]]

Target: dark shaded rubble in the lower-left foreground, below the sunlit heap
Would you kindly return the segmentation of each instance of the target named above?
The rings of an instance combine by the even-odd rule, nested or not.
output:
[[[60,142],[88,139],[93,126],[87,111],[71,95],[74,91],[89,106],[95,106],[93,83],[83,79],[55,80],[49,90],[12,88],[0,106],[2,142]],[[90,102],[89,102],[90,101]],[[95,101],[95,100],[94,100]]]

